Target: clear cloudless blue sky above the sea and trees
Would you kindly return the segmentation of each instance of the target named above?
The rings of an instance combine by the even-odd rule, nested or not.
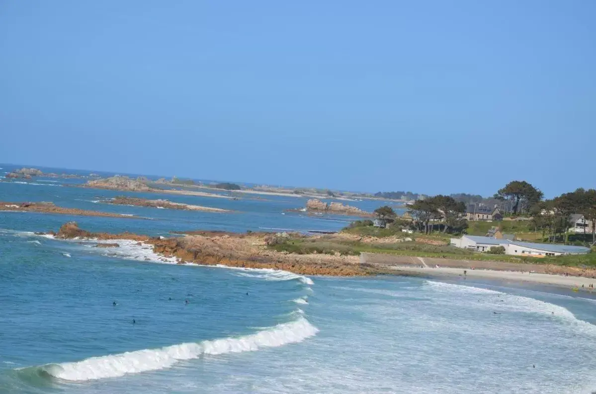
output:
[[[2,1],[0,162],[594,187],[594,1]]]

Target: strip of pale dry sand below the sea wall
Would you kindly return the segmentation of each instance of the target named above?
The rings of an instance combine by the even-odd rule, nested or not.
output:
[[[387,267],[393,270],[402,271],[405,273],[415,273],[434,277],[452,277],[463,276],[464,270],[462,268],[430,268],[430,267],[412,267],[409,266],[391,266]],[[521,271],[495,271],[495,270],[466,270],[467,277],[479,279],[498,279],[498,280],[515,280],[517,282],[531,282],[541,284],[552,284],[562,287],[578,287],[580,290],[589,290],[590,284],[596,284],[596,279],[586,278],[580,276],[563,276],[541,273],[529,273]],[[582,289],[582,284],[583,289]]]

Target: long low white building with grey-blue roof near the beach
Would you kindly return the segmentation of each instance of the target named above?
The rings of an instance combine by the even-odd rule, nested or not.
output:
[[[533,257],[579,255],[589,253],[590,251],[589,248],[585,248],[584,246],[520,242],[476,235],[464,235],[461,238],[452,238],[451,245],[477,252],[486,252],[495,246],[503,246],[505,248],[505,254]]]

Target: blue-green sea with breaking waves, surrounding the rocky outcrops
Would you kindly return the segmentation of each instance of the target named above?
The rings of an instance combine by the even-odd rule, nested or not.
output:
[[[148,219],[0,212],[1,393],[596,389],[594,299],[469,280],[175,265],[132,242],[100,249],[54,240],[34,232],[68,220],[156,235],[336,230],[345,222],[281,215],[303,199],[167,196],[238,211],[181,212],[101,205],[92,201],[116,193],[40,181],[1,182],[0,201],[54,201]]]

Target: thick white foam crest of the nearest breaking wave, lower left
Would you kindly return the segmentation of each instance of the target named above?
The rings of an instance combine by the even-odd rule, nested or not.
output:
[[[103,357],[91,357],[79,362],[48,364],[42,367],[47,373],[64,380],[85,381],[124,376],[125,374],[161,370],[172,367],[181,360],[201,357],[257,351],[288,343],[302,342],[314,336],[318,329],[301,317],[296,321],[266,329],[254,334],[200,343],[181,343],[161,349],[144,349]]]

